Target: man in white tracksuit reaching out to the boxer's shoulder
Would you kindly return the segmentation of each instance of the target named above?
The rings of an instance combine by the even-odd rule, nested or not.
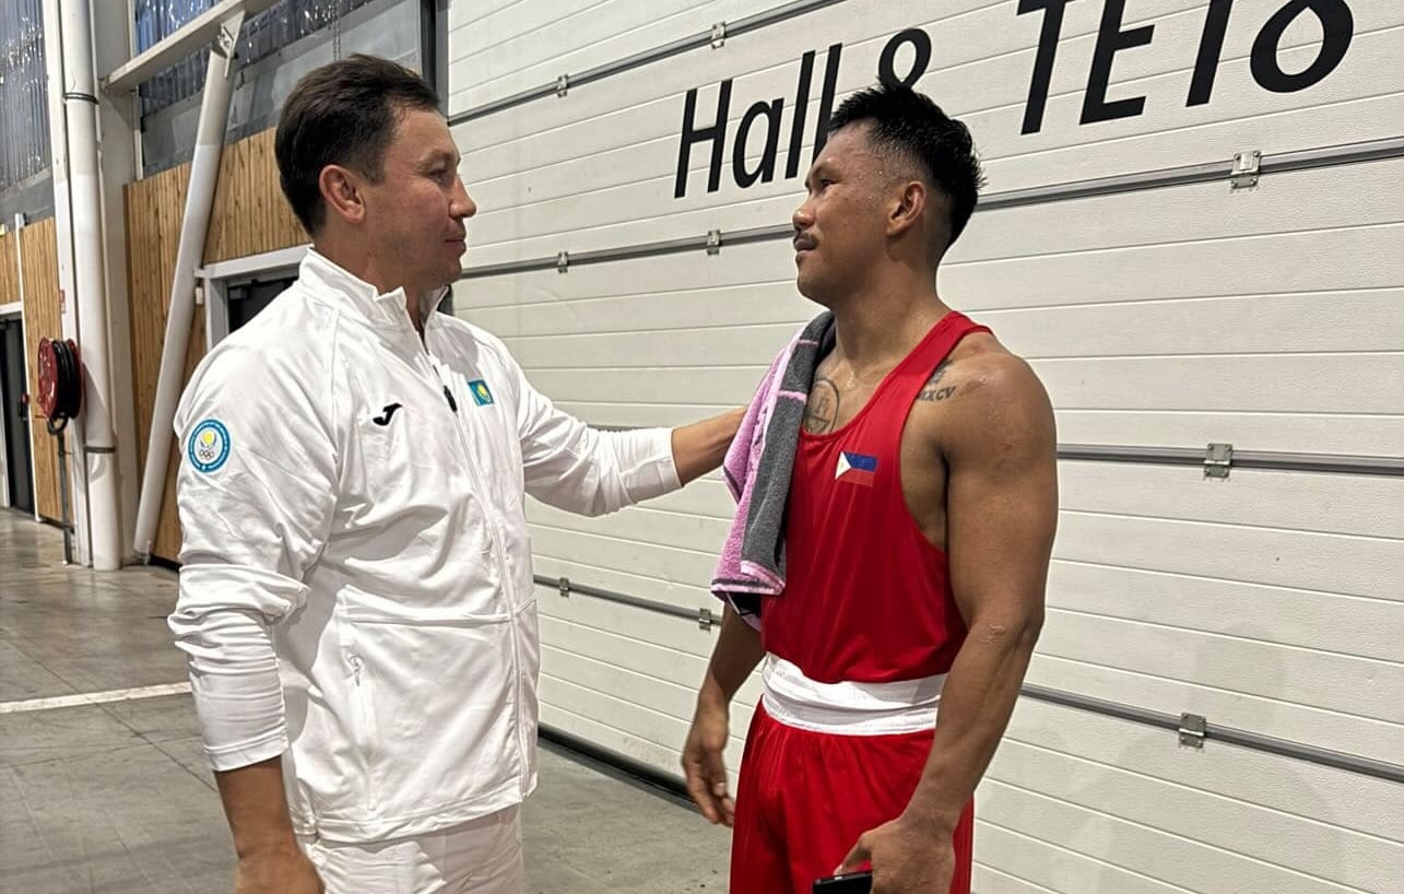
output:
[[[588,515],[657,497],[719,465],[740,413],[600,432],[435,313],[477,208],[414,73],[352,56],[307,74],[277,157],[313,250],[176,415],[170,626],[234,887],[518,894],[539,657],[525,494]]]

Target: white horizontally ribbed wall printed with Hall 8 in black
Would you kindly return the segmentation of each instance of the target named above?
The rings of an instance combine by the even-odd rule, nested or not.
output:
[[[449,10],[449,112],[552,84],[775,8],[764,0],[459,3]],[[1057,6],[1057,4],[1054,4]],[[504,337],[532,382],[602,425],[678,424],[743,403],[814,307],[783,241],[802,59],[814,51],[803,149],[831,56],[838,100],[872,83],[893,35],[931,41],[918,87],[974,132],[987,194],[1398,138],[1404,10],[1351,13],[1349,46],[1318,83],[1273,93],[1251,62],[1287,0],[1231,4],[1209,101],[1210,4],[1127,0],[1106,101],[1134,116],[1081,124],[1113,0],[1066,4],[1036,132],[1025,133],[1042,11],[977,0],[847,0],[680,52],[564,95],[455,125],[482,212],[461,313]],[[1296,4],[1303,6],[1303,4]],[[1221,3],[1213,8],[1221,10]],[[1113,8],[1115,11],[1115,8]],[[1111,25],[1118,22],[1112,21]],[[1144,32],[1141,32],[1144,34]],[[1104,41],[1106,36],[1104,35]],[[1328,38],[1337,41],[1338,38]],[[842,44],[842,49],[830,51]],[[1272,45],[1268,45],[1272,49]],[[1309,10],[1273,58],[1323,52]],[[1259,48],[1261,55],[1261,48]],[[914,58],[896,56],[899,73]],[[1259,60],[1261,67],[1261,60]],[[719,189],[712,145],[675,173],[687,94],[709,126],[730,81]],[[733,142],[754,102],[782,100],[775,177],[741,188]],[[762,121],[764,124],[764,121]],[[761,166],[762,126],[741,153]],[[702,250],[473,275],[476,268],[723,232]],[[1060,442],[1306,455],[1404,453],[1404,160],[1268,173],[981,211],[946,261],[945,299],[994,327],[1043,378]],[[1289,742],[1404,763],[1404,479],[1067,460],[1049,622],[1029,682]],[[731,504],[719,480],[608,519],[534,504],[538,574],[685,608],[706,592]],[[538,589],[543,720],[673,772],[715,633]],[[755,685],[733,716],[740,756]],[[1317,894],[1400,890],[1404,787],[1025,699],[979,794],[980,894]]]

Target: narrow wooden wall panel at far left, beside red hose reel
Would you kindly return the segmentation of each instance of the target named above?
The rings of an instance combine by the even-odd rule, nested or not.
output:
[[[34,358],[44,338],[62,338],[63,321],[59,309],[59,247],[53,218],[31,223],[20,230],[20,251],[24,257],[20,275],[24,278],[24,349],[29,358],[29,435],[34,439],[35,508],[49,521],[60,521],[58,442],[45,425],[38,404],[39,369]],[[72,449],[72,432],[67,438]],[[70,458],[72,462],[72,458]],[[72,500],[69,501],[72,507]],[[69,519],[72,521],[72,514]]]

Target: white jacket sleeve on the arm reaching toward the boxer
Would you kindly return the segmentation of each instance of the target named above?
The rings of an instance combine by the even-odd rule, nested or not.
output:
[[[517,424],[526,493],[556,508],[604,515],[682,487],[667,428],[600,431],[557,410],[515,361]]]

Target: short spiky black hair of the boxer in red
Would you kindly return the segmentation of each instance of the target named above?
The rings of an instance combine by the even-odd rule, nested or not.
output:
[[[859,90],[830,119],[830,132],[869,122],[869,138],[915,164],[951,202],[951,243],[959,239],[980,199],[984,173],[970,129],[946,115],[931,97],[896,81]]]

